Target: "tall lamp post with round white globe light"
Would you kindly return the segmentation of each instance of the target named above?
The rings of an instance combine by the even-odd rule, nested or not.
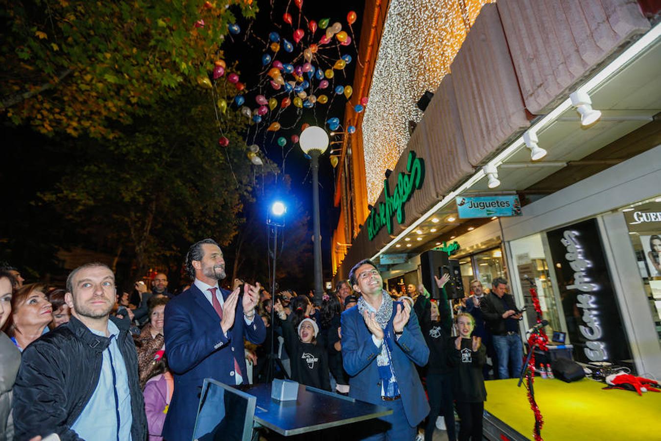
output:
[[[309,126],[299,138],[301,150],[312,159],[312,205],[314,222],[314,255],[315,255],[315,304],[321,304],[323,296],[321,272],[321,226],[319,222],[319,155],[324,153],[329,145],[329,136],[325,130],[317,126]]]

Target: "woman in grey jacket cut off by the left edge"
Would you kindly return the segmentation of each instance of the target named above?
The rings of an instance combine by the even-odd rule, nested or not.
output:
[[[0,330],[5,327],[5,323],[11,315],[11,297],[15,284],[14,276],[11,273],[0,271]],[[11,419],[11,391],[14,381],[16,381],[16,374],[19,372],[19,366],[20,351],[9,337],[0,331],[0,439],[11,440],[14,437],[14,423]]]

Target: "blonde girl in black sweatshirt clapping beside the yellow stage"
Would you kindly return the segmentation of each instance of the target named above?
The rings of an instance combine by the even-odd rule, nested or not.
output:
[[[459,337],[448,340],[449,364],[453,366],[453,396],[461,423],[459,441],[482,440],[482,417],[485,410],[486,389],[482,376],[486,349],[480,337],[473,337],[475,319],[469,313],[455,318]]]

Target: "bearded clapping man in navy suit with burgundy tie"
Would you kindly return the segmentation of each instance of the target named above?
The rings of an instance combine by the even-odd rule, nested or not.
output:
[[[193,437],[202,381],[213,378],[237,385],[245,380],[243,338],[260,344],[264,322],[255,317],[259,284],[233,292],[219,288],[225,278],[223,252],[213,239],[195,243],[186,255],[195,281],[165,306],[165,354],[175,378],[163,436],[168,441]]]

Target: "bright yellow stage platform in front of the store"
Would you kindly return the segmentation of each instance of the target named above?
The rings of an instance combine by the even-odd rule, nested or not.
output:
[[[518,379],[485,381],[484,435],[489,440],[531,440],[535,417]],[[661,393],[617,389],[583,380],[535,378],[537,405],[544,417],[541,435],[553,440],[661,440]]]

